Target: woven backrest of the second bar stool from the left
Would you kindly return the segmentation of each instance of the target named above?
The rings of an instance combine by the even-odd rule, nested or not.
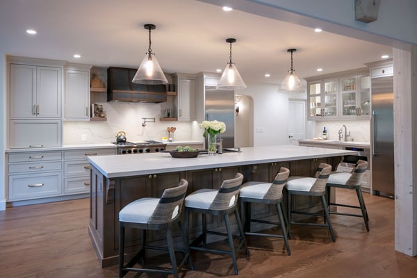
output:
[[[215,195],[210,209],[221,211],[231,208],[237,204],[240,186],[243,182],[243,174],[237,173],[234,179],[226,179],[222,182],[222,186]]]

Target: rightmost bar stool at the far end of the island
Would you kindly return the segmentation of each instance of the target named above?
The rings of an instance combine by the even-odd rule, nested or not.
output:
[[[347,216],[354,216],[363,218],[363,222],[365,222],[366,231],[369,231],[368,225],[368,211],[366,211],[365,202],[363,201],[362,190],[361,190],[361,180],[363,174],[366,172],[368,168],[368,162],[359,160],[355,167],[353,168],[352,172],[332,172],[330,174],[329,180],[327,181],[327,195],[329,196],[330,188],[345,188],[350,190],[356,190],[359,206],[352,206],[349,204],[338,204],[329,202],[329,206],[345,206],[348,208],[360,208],[362,214],[354,214],[354,213],[338,213],[330,211],[330,213],[338,214],[338,215],[347,215]]]

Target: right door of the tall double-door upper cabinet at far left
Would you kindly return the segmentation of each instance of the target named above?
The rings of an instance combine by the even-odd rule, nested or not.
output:
[[[37,113],[38,117],[61,116],[61,79],[59,67],[37,67]]]

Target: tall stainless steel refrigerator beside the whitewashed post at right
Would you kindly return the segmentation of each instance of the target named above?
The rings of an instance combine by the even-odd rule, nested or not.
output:
[[[371,79],[372,189],[394,196],[393,76]]]

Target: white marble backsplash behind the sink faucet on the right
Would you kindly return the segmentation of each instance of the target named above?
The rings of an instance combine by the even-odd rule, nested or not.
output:
[[[326,126],[327,139],[338,140],[338,131],[342,124],[347,127],[347,133],[350,131],[348,140],[370,142],[370,121],[369,120],[352,120],[352,121],[316,121],[312,124],[311,138],[322,137],[323,127]]]

